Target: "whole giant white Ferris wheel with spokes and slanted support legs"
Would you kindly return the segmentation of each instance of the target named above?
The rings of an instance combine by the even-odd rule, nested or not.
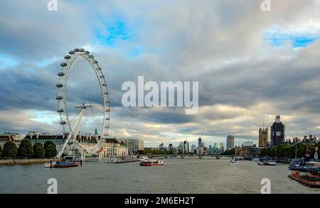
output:
[[[58,113],[60,125],[67,136],[60,158],[67,146],[81,155],[98,153],[108,136],[110,100],[102,68],[90,52],[75,48],[65,55],[58,72]],[[95,133],[94,133],[95,132]],[[94,146],[82,146],[77,140],[82,133],[95,134]]]

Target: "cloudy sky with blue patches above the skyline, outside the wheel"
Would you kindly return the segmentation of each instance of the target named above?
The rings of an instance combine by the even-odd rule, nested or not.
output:
[[[63,56],[95,55],[111,101],[110,136],[166,145],[257,143],[282,115],[286,137],[320,131],[320,1],[0,1],[0,131],[58,133]],[[124,108],[122,83],[198,81],[199,111]]]

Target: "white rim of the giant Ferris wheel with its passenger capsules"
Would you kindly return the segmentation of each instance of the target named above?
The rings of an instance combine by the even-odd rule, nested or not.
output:
[[[109,93],[107,90],[107,82],[105,81],[105,75],[103,75],[102,68],[95,60],[93,55],[90,55],[90,52],[84,49],[75,48],[75,50],[71,50],[69,55],[65,55],[65,62],[61,63],[61,70],[58,73],[58,113],[60,115],[60,124],[63,126],[63,130],[68,135],[71,133],[74,137],[77,132],[73,132],[73,128],[70,124],[69,114],[68,114],[68,104],[67,104],[67,86],[68,86],[68,77],[70,72],[73,70],[73,65],[77,61],[78,58],[84,58],[84,60],[90,64],[91,70],[95,72],[97,76],[97,80],[100,85],[100,92],[102,94],[102,102],[103,102],[103,123],[102,123],[102,131],[100,138],[97,139],[97,144],[90,148],[90,150],[85,149],[80,145],[80,143],[75,139],[75,143],[79,146],[82,151],[90,152],[96,151],[100,149],[100,143],[105,141],[108,136],[108,131],[110,127],[110,99]]]

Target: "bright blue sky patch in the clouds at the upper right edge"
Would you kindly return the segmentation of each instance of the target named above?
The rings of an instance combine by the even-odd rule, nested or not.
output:
[[[278,47],[289,41],[292,44],[292,48],[304,48],[314,43],[314,41],[319,40],[320,34],[288,34],[279,33],[279,31],[268,31],[264,34],[264,39],[269,41],[271,45]]]

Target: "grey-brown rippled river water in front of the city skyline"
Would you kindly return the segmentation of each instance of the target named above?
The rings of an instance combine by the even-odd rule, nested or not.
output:
[[[78,168],[36,165],[1,165],[0,193],[46,193],[49,178],[58,181],[58,193],[260,193],[262,178],[271,181],[272,193],[314,193],[289,179],[288,165],[260,166],[229,158],[166,159],[164,166],[138,163],[84,163]]]

